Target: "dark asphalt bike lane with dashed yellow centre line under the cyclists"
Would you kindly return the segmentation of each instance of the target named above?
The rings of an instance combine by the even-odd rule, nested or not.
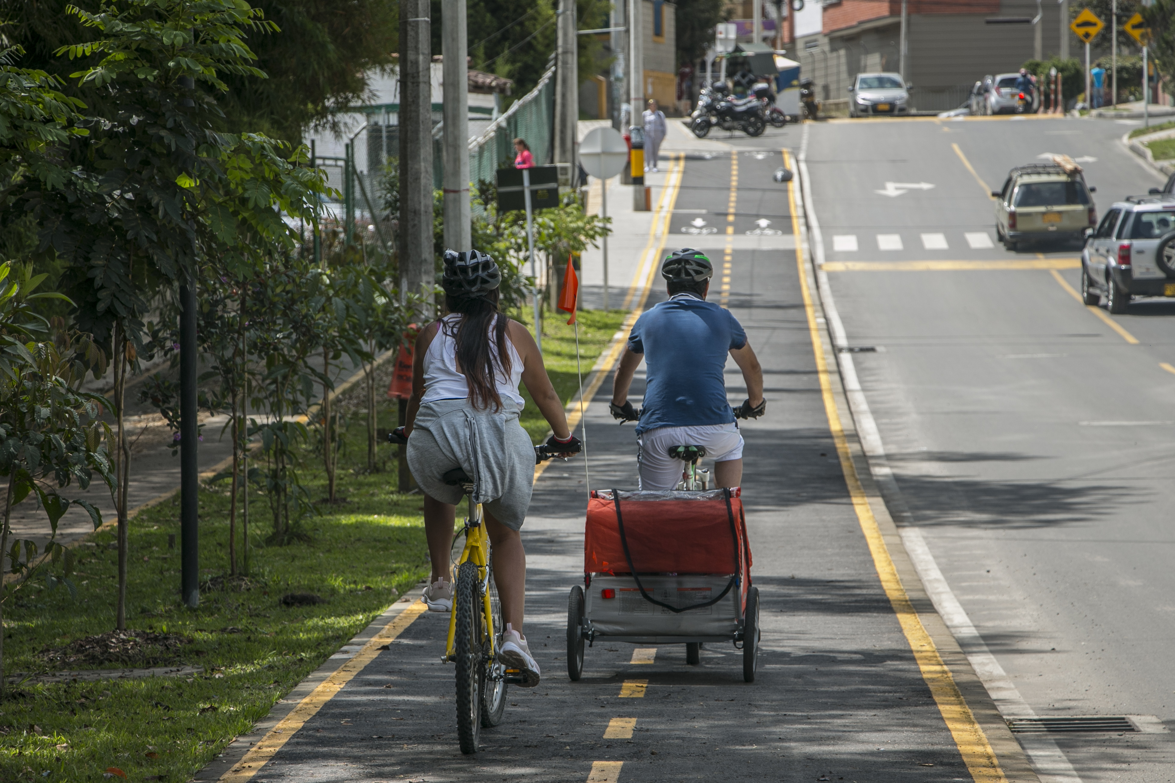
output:
[[[580,459],[549,465],[523,528],[525,633],[543,682],[510,688],[505,717],[483,729],[481,751],[457,748],[454,668],[441,662],[448,615],[423,613],[397,621],[404,627],[388,649],[268,763],[235,765],[221,779],[1005,779],[998,768],[968,769],[958,721],[945,722],[925,660],[904,634],[908,619],[899,622],[862,535],[813,351],[819,316],[811,293],[805,303],[788,190],[771,181],[780,151],[684,157],[664,247],[707,251],[717,272],[711,297],[743,323],[766,379],[766,416],[743,425],[743,498],[763,607],[757,681],[743,681],[732,644],[707,644],[700,664],[687,666],[684,644],[606,640],[586,649],[583,679],[568,679],[568,592],[582,583],[588,482],[636,486],[636,439],[631,424],[607,412],[609,377],[585,416],[588,475]],[[646,306],[664,298],[653,279]],[[726,380],[738,404],[745,387],[732,362]],[[634,401],[643,385],[638,374]]]

